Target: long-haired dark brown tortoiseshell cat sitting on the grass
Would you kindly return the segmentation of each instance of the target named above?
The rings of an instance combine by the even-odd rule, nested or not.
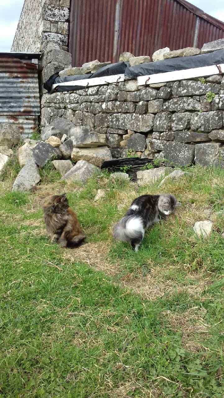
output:
[[[53,195],[43,205],[43,218],[51,243],[62,247],[78,246],[85,239],[77,215],[70,209],[66,194]]]

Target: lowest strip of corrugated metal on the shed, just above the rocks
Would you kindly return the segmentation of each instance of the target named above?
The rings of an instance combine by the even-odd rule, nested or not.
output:
[[[13,123],[19,127],[22,137],[30,137],[37,128],[37,116],[0,115],[0,123]]]

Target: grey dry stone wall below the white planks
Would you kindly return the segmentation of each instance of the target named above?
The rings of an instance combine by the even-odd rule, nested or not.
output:
[[[222,75],[153,87],[126,80],[45,94],[41,107],[43,126],[58,118],[71,123],[70,150],[80,158],[104,146],[112,158],[135,154],[166,164],[224,167]]]

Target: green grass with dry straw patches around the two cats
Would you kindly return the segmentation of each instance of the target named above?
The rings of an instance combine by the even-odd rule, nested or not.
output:
[[[224,171],[187,171],[163,187],[182,207],[138,253],[112,240],[111,225],[157,184],[104,174],[65,186],[49,165],[34,193],[12,193],[14,173],[4,178],[0,398],[223,398]],[[66,190],[87,235],[75,250],[50,244],[42,220],[40,198]],[[194,222],[208,218],[212,236],[197,238]]]

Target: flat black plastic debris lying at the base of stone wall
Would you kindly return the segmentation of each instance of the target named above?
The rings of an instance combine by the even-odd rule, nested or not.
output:
[[[151,167],[144,167],[146,165],[151,165]],[[108,169],[109,172],[126,173],[132,181],[136,181],[138,171],[147,170],[147,168],[157,168],[159,166],[160,164],[155,164],[152,159],[124,158],[105,160],[101,166],[101,170]]]

